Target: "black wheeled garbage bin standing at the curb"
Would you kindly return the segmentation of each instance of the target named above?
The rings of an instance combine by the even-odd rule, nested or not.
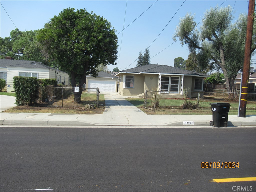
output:
[[[227,127],[228,126],[228,112],[230,108],[229,103],[210,103],[212,111],[212,121],[210,126]]]

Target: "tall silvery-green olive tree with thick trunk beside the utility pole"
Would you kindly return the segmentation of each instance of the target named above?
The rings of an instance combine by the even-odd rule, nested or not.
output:
[[[178,37],[182,46],[187,44],[190,52],[196,52],[198,65],[219,67],[226,79],[228,98],[234,99],[238,97],[234,93],[234,79],[243,68],[247,17],[240,15],[232,24],[231,13],[230,6],[206,10],[200,30],[197,29],[194,15],[187,13],[180,19],[173,39]],[[255,54],[253,51],[256,48],[255,29],[254,24],[251,56]]]

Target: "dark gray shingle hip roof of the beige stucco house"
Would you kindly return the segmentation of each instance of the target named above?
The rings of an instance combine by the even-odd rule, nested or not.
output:
[[[170,73],[170,74],[185,74],[185,75],[198,75],[198,76],[208,76],[203,73],[197,73],[194,71],[188,71],[185,69],[178,69],[176,67],[168,65],[143,65],[140,67],[134,67],[131,69],[126,69],[120,72],[130,72],[130,73]]]

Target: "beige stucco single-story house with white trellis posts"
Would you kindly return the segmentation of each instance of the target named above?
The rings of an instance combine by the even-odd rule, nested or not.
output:
[[[151,64],[120,71],[116,76],[120,78],[119,93],[122,96],[139,96],[148,90],[168,94],[169,98],[183,98],[185,90],[189,92],[189,98],[197,97],[196,92],[203,92],[204,78],[210,77],[167,65]]]

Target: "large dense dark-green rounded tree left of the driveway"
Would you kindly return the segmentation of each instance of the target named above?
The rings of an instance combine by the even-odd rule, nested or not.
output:
[[[117,41],[115,29],[105,18],[85,9],[63,9],[39,30],[38,40],[49,57],[70,74],[72,87],[82,87],[86,75],[96,77],[97,67],[115,64]],[[74,101],[81,101],[82,90],[74,92]]]

